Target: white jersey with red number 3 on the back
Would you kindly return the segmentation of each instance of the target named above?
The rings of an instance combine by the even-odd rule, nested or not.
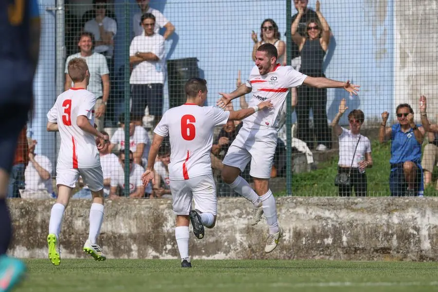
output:
[[[86,116],[94,126],[96,97],[90,91],[71,88],[61,93],[47,113],[49,122],[57,123],[61,136],[56,168],[92,168],[100,165],[95,137],[79,128],[78,116]]]

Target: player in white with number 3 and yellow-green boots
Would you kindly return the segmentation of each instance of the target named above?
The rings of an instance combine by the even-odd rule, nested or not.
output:
[[[47,113],[47,130],[59,131],[61,136],[56,165],[58,198],[52,207],[47,236],[49,259],[55,266],[61,261],[59,233],[62,217],[79,175],[90,188],[93,197],[90,233],[84,245],[84,252],[95,260],[106,259],[96,240],[104,211],[103,173],[98,150],[108,141],[105,140],[104,134],[93,127],[96,97],[86,90],[90,72],[85,59],[73,58],[68,64],[68,72],[73,80],[73,87],[61,93],[53,108]]]

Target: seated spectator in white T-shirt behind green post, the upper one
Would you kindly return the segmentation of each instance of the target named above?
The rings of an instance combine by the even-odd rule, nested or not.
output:
[[[111,137],[110,152],[115,146],[118,149],[125,149],[125,113],[120,115],[120,128]],[[150,139],[146,130],[141,126],[135,126],[132,115],[129,116],[129,150],[134,155],[134,163],[147,165],[147,155],[149,154]]]

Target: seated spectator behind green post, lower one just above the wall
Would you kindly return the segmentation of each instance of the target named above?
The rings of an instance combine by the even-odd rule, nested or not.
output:
[[[145,198],[145,187],[143,186],[141,176],[145,172],[143,166],[134,163],[133,153],[129,150],[129,198]],[[125,149],[119,152],[119,166],[114,173],[111,173],[110,182],[110,199],[118,199],[119,194],[123,196],[125,189]],[[118,192],[117,190],[121,190]],[[147,197],[152,193],[150,184],[146,189]]]

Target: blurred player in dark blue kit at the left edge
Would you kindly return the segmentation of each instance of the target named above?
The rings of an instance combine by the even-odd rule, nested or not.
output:
[[[6,256],[12,221],[5,198],[18,134],[33,110],[40,37],[37,0],[1,1],[0,35],[0,292],[5,292],[26,269],[20,260]]]

